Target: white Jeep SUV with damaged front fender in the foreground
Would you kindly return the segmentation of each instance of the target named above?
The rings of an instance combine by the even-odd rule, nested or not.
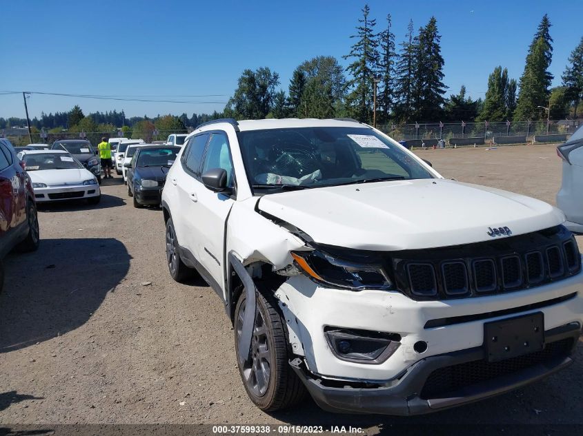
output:
[[[200,125],[166,180],[170,275],[196,269],[223,300],[264,411],[308,391],[428,413],[572,362],[583,274],[555,207],[446,180],[346,119]]]

